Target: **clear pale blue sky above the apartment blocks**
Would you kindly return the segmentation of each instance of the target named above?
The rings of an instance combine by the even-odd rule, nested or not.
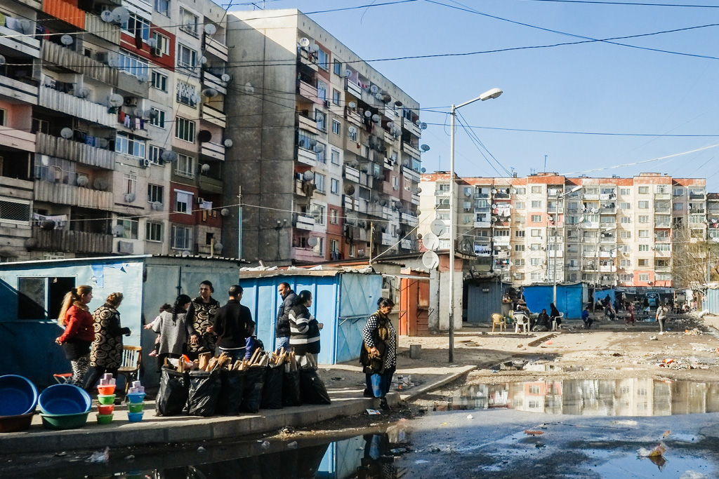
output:
[[[635,3],[650,2],[712,5],[707,0]],[[371,0],[274,0],[267,1],[265,8],[311,12],[370,3]],[[372,60],[554,45],[579,42],[580,37],[607,39],[700,27],[719,24],[719,8],[417,0],[310,17],[357,55]],[[459,129],[459,175],[498,176],[490,163],[503,175],[503,167],[520,176],[528,175],[531,169],[544,171],[546,155],[546,171],[560,174],[605,177],[661,172],[707,177],[707,189],[719,191],[719,60],[700,57],[719,57],[718,33],[719,25],[615,40],[697,56],[588,42],[371,63],[419,101],[422,108],[434,110],[421,112],[422,121],[430,124],[421,140],[431,148],[422,158],[427,172],[449,169],[449,106],[498,87],[504,91],[500,98],[473,103],[459,112],[467,125],[485,127],[473,131],[501,166],[485,150],[482,152],[489,161],[482,157],[481,149],[467,132]],[[613,135],[512,131],[517,129]],[[663,159],[648,162],[657,158]],[[636,162],[646,163],[606,169]],[[589,171],[597,168],[603,169]]]

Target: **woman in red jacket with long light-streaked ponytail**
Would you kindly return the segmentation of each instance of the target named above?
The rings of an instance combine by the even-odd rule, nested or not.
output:
[[[87,306],[91,301],[92,287],[83,284],[73,288],[65,294],[58,315],[58,324],[65,327],[65,332],[55,343],[63,346],[65,358],[73,366],[70,383],[80,387],[90,368],[90,345],[95,340],[93,319]]]

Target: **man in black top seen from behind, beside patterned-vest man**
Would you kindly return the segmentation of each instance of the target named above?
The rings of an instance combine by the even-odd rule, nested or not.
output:
[[[247,306],[239,304],[242,299],[242,287],[238,284],[229,287],[229,301],[215,314],[212,332],[217,338],[217,347],[232,357],[232,361],[249,358],[252,354],[252,333],[255,322]]]

